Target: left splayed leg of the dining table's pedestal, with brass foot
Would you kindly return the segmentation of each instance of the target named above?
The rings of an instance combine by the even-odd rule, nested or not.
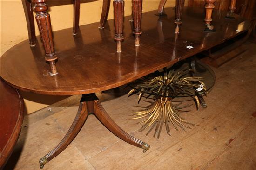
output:
[[[69,128],[67,134],[61,140],[61,142],[50,152],[48,152],[39,161],[40,168],[42,169],[44,165],[52,160],[54,157],[58,156],[67,146],[74,140],[75,136],[81,130],[86,118],[88,117],[88,109],[86,101],[81,101],[79,105],[78,112],[75,116],[74,122]]]

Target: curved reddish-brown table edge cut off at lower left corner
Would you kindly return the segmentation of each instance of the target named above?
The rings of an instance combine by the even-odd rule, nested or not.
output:
[[[20,93],[0,79],[0,169],[13,152],[23,122],[24,104]]]

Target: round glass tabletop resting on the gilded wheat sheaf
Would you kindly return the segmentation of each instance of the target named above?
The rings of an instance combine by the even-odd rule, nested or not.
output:
[[[205,95],[215,84],[214,71],[197,60],[182,60],[162,71],[156,71],[128,84],[133,90],[146,98],[188,97]],[[144,95],[146,94],[146,95]],[[147,95],[148,94],[148,95]]]

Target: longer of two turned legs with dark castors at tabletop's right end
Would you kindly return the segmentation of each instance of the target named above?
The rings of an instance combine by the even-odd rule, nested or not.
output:
[[[204,30],[204,31],[211,31],[211,32],[213,32],[214,30],[214,26],[213,25],[211,25],[211,22],[212,22],[212,18],[211,18],[211,16],[212,16],[212,11],[213,11],[213,8],[215,8],[215,6],[214,6],[214,2],[215,2],[215,0],[205,0],[205,6],[204,6],[204,8],[205,8],[205,19],[204,19],[204,21],[205,21],[205,25],[207,26],[207,28]]]

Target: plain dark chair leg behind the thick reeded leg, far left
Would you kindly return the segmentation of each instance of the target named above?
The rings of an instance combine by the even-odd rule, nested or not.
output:
[[[26,21],[27,21],[27,31],[28,31],[28,38],[29,38],[29,45],[34,47],[36,44],[36,37],[35,37],[35,27],[34,27],[34,16],[33,16],[33,9],[30,0],[21,0]]]

